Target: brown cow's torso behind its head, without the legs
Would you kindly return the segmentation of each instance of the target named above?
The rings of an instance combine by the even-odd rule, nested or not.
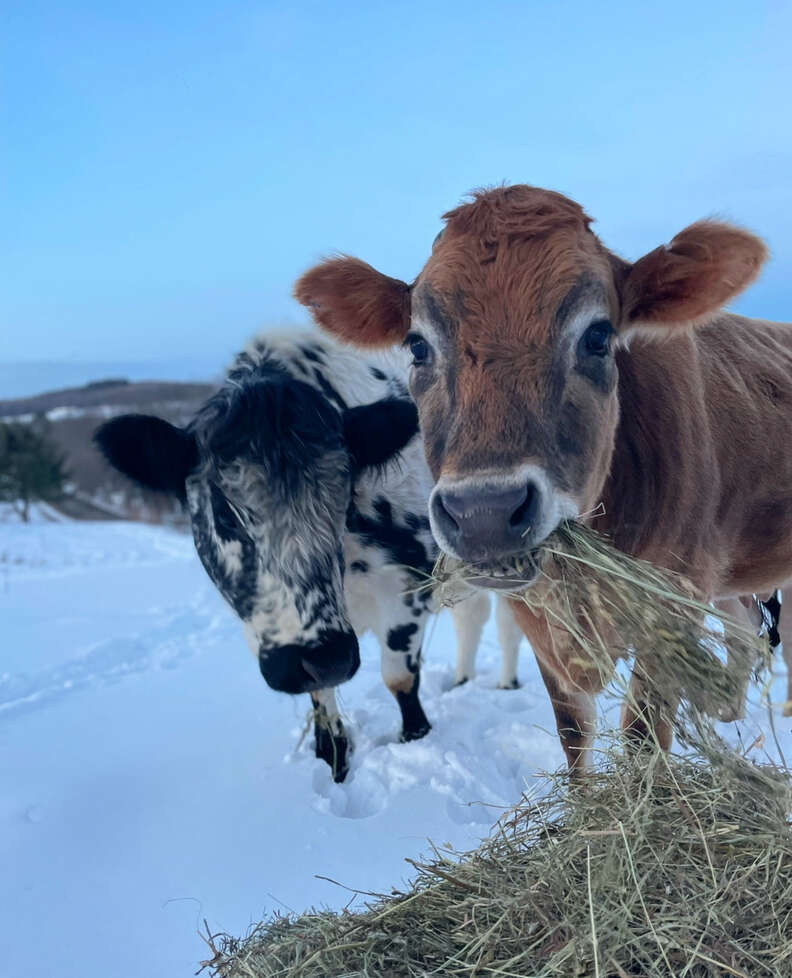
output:
[[[663,343],[637,339],[617,362],[619,427],[593,525],[710,598],[787,581],[792,328],[723,315]]]

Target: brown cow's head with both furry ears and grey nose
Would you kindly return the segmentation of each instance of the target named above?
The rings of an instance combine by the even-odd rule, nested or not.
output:
[[[445,221],[412,287],[336,258],[295,294],[341,339],[409,346],[432,529],[447,552],[494,566],[598,501],[619,418],[615,350],[711,318],[766,252],[702,221],[630,265],[578,204],[527,186],[476,193]]]

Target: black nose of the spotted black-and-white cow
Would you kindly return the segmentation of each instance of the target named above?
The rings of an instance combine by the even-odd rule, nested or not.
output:
[[[354,632],[325,632],[311,645],[279,645],[259,652],[267,684],[281,693],[310,693],[351,679],[360,665]]]

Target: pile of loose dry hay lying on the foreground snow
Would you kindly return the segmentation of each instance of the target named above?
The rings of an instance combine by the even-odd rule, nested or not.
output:
[[[617,745],[618,746],[618,745]],[[207,938],[218,978],[779,978],[792,975],[785,774],[711,746],[609,750],[551,779],[490,841],[436,852],[365,912]]]

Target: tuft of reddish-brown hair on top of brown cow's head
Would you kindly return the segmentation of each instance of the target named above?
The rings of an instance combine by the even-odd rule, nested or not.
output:
[[[527,184],[475,190],[472,200],[443,215],[449,231],[483,238],[533,237],[561,228],[589,229],[591,218],[580,204],[553,190]]]

